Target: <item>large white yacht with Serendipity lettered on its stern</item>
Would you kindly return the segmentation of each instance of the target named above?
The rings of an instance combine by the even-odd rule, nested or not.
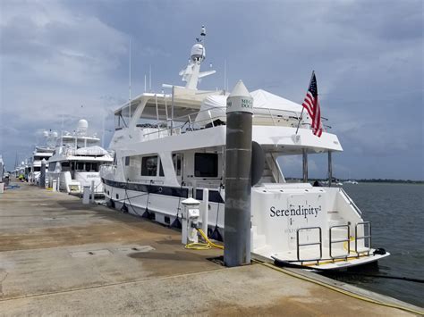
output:
[[[182,200],[202,200],[208,188],[208,234],[223,238],[225,211],[225,106],[227,92],[197,88],[206,57],[198,40],[187,68],[185,87],[171,94],[143,93],[114,113],[110,143],[114,163],[102,166],[106,202],[118,210],[177,226]],[[371,224],[343,188],[312,187],[307,155],[328,155],[343,148],[335,134],[320,138],[301,117],[301,104],[259,89],[250,93],[253,141],[265,153],[265,169],[251,189],[251,252],[290,265],[340,269],[375,262],[388,255],[371,246]],[[326,127],[326,129],[329,129]],[[304,182],[284,179],[283,155],[303,154]],[[306,162],[306,163],[305,163]],[[225,238],[225,237],[224,237]]]

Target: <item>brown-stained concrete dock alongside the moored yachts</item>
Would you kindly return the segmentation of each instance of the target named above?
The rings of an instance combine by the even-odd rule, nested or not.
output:
[[[174,229],[19,185],[0,195],[0,315],[413,315],[261,264],[228,269]]]

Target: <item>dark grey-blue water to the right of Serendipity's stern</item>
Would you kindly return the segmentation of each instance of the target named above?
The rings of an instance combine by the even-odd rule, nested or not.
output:
[[[360,208],[364,220],[371,221],[372,246],[384,247],[391,254],[377,267],[353,272],[424,279],[424,186],[365,183],[346,184],[343,188]],[[332,278],[424,306],[422,283],[343,274]]]

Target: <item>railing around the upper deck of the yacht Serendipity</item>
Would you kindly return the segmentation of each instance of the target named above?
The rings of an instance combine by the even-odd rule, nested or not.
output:
[[[199,114],[206,114],[205,119],[198,120]],[[157,129],[156,131],[149,131],[148,133],[143,134],[143,137],[147,137],[149,135],[157,134],[158,138],[161,136],[167,136],[167,133],[180,133],[181,131],[193,131],[197,129],[205,129],[216,127],[218,125],[222,125],[225,121],[221,119],[226,117],[226,109],[223,107],[210,107],[205,110],[200,110],[195,113],[190,113],[187,115],[183,115],[181,117],[174,118],[174,121],[182,122],[180,125],[175,126],[174,124],[170,124],[172,120],[166,121],[157,121],[156,124],[143,124],[138,125],[140,128],[152,128]],[[255,125],[255,121],[257,125],[263,126],[290,126],[290,122],[293,123],[292,127],[296,127],[299,121],[299,113],[290,111],[290,110],[276,110],[270,108],[256,108],[253,109],[253,124]],[[322,118],[323,121],[326,121],[326,118]],[[285,124],[284,124],[285,123]],[[170,127],[170,125],[172,127]],[[310,127],[310,123],[301,123],[301,127]],[[329,126],[325,126],[327,128],[331,128]],[[310,129],[310,128],[309,128]]]

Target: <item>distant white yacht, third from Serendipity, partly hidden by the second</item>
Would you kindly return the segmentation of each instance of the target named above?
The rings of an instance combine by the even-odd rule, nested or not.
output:
[[[44,159],[48,161],[53,155],[55,150],[55,140],[57,139],[57,132],[44,131],[43,137],[46,138],[45,145],[35,146],[32,156],[30,158],[31,171],[29,174],[29,181],[32,184],[39,184],[39,176],[41,173],[41,161]]]

